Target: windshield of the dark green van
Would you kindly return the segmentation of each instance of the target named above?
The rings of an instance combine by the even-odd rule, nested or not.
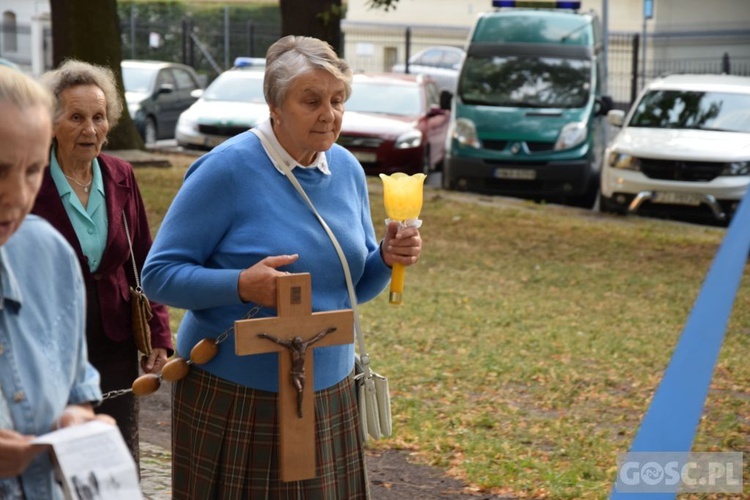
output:
[[[557,57],[471,56],[458,95],[467,104],[580,108],[591,91],[591,61]]]

